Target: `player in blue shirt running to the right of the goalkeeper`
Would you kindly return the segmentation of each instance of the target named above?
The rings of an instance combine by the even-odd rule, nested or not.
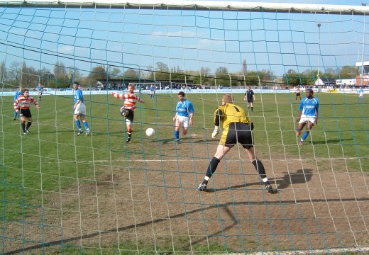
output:
[[[318,123],[318,109],[319,109],[319,100],[318,98],[314,98],[314,91],[312,89],[307,89],[306,98],[303,98],[299,105],[299,118],[297,122],[299,125],[297,126],[296,134],[300,135],[301,130],[307,124],[305,128],[304,135],[302,135],[301,140],[299,141],[299,145],[303,145],[305,139],[309,135],[310,130],[312,130],[314,124]]]

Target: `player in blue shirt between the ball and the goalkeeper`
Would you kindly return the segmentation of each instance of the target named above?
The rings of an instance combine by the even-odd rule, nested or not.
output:
[[[173,121],[175,121],[175,141],[180,142],[180,127],[183,128],[183,135],[187,135],[189,126],[193,125],[193,117],[194,117],[194,105],[184,98],[184,92],[180,91],[178,93],[178,101],[177,107],[175,108],[175,117]]]

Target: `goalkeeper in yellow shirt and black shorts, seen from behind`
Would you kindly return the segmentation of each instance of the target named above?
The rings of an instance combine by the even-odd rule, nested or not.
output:
[[[224,94],[222,105],[214,112],[215,128],[214,132],[211,134],[211,138],[215,138],[218,135],[221,122],[223,123],[221,140],[206,170],[204,181],[199,185],[199,191],[207,191],[207,183],[214,174],[216,166],[218,166],[224,155],[239,142],[246,150],[250,162],[255,166],[259,176],[263,179],[266,190],[269,193],[276,193],[277,191],[272,188],[268,181],[263,163],[255,157],[253,135],[251,133],[253,125],[250,123],[250,119],[246,116],[246,112],[243,108],[233,104],[231,94]]]

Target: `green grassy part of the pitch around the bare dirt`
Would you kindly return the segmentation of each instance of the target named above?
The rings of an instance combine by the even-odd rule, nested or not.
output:
[[[206,144],[214,143],[210,138],[214,128],[213,113],[222,94],[187,96],[196,111],[191,132],[204,137],[199,142],[204,144],[206,150],[209,148]],[[234,96],[236,104],[246,106],[243,94]],[[368,171],[368,104],[357,103],[356,95],[351,94],[315,96],[321,103],[319,123],[314,126],[306,145],[298,147],[294,118],[299,102],[294,100],[294,95],[256,94],[255,110],[250,117],[255,123],[254,136],[259,157],[270,159],[282,155],[282,158],[317,159],[316,164],[319,164],[321,171],[329,171],[332,166],[319,159],[342,159],[343,164],[336,166],[334,171]],[[49,198],[45,194],[67,189],[77,194],[78,183],[94,183],[106,174],[106,169],[122,165],[134,168],[136,164],[128,159],[151,159],[158,153],[163,156],[171,153],[165,145],[172,141],[172,116],[177,95],[158,94],[155,101],[143,95],[146,103],[138,103],[133,140],[129,146],[124,142],[125,123],[119,114],[121,101],[110,95],[89,96],[85,93],[84,97],[87,121],[93,132],[90,137],[75,135],[71,96],[44,96],[40,111],[32,106],[35,124],[31,126],[32,134],[26,136],[21,134],[19,121],[11,120],[12,97],[1,99],[0,196],[3,198],[3,222],[26,221],[38,208],[48,204]],[[149,127],[155,129],[155,136],[145,136],[145,129]],[[160,146],[156,146],[155,142],[159,142]],[[212,157],[213,153],[207,154]],[[69,210],[78,210],[75,205],[66,206],[70,206]],[[130,250],[130,245],[119,248]],[[168,246],[170,244],[164,242],[161,249],[170,250]],[[213,248],[212,251],[224,249],[215,244]],[[79,254],[79,249],[71,249],[72,254]],[[132,254],[136,254],[136,247],[132,249]],[[208,247],[194,247],[196,251],[206,249]],[[150,254],[155,247],[143,247],[142,250],[140,254]]]

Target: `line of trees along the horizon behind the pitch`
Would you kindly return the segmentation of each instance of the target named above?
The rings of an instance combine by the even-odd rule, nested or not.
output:
[[[314,84],[318,74],[317,69],[306,69],[297,72],[290,69],[282,77],[277,77],[270,70],[247,70],[246,61],[243,61],[239,72],[229,72],[227,67],[218,67],[211,73],[208,67],[199,71],[182,71],[179,67],[168,67],[163,62],[157,62],[155,67],[146,70],[109,65],[97,65],[91,71],[85,72],[77,67],[65,67],[63,62],[56,62],[53,70],[42,67],[28,67],[26,62],[12,62],[7,68],[5,62],[0,63],[1,82],[4,88],[22,87],[32,88],[40,82],[49,88],[71,88],[74,81],[83,86],[97,86],[97,80],[111,79],[143,79],[145,81],[192,81],[192,84],[203,86],[298,86]],[[327,68],[319,72],[319,77],[331,79],[352,79],[357,74],[357,67],[345,66],[341,68]]]

